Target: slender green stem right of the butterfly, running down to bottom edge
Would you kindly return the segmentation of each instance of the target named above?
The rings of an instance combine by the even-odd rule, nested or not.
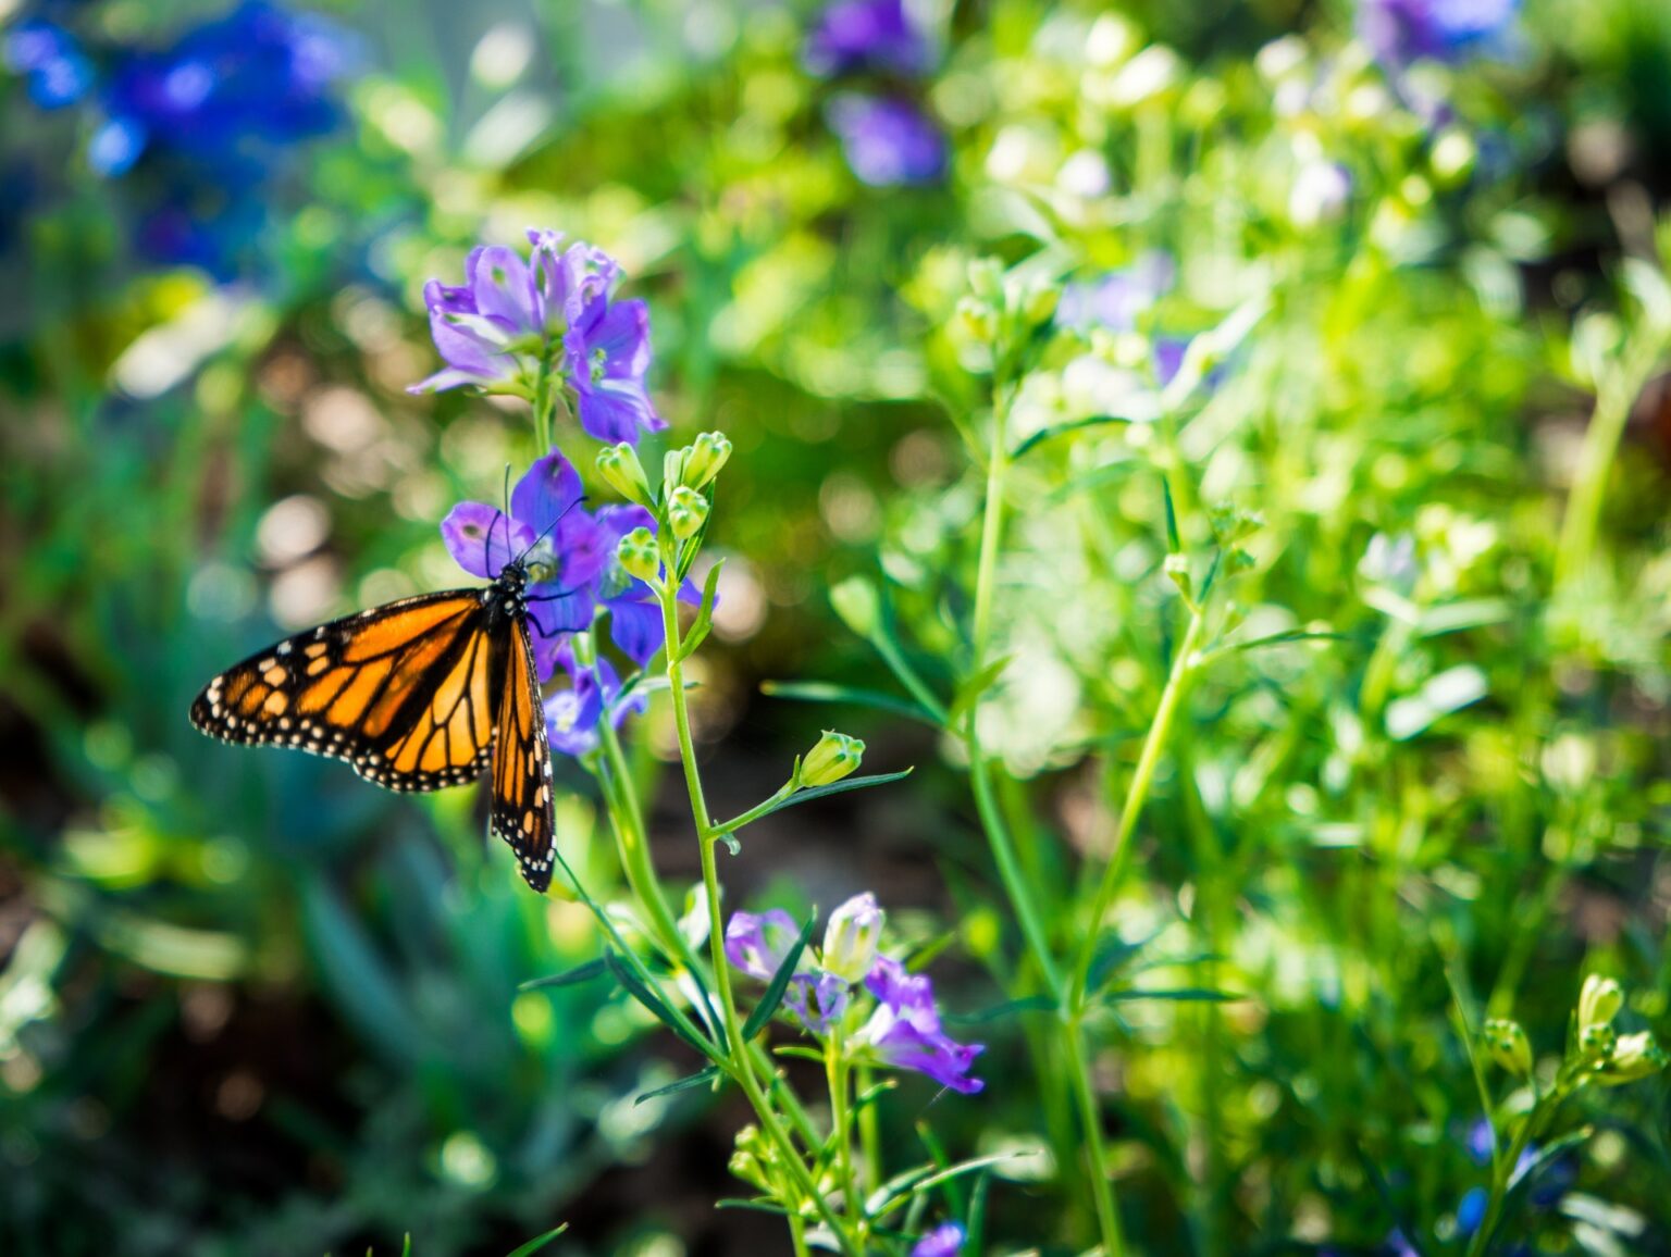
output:
[[[673,573],[675,556],[665,534],[662,538],[662,563],[668,573]],[[730,965],[725,960],[725,928],[724,918],[720,916],[720,878],[714,858],[714,846],[719,841],[719,835],[715,833],[714,820],[709,815],[707,796],[702,790],[702,775],[697,771],[697,748],[690,736],[690,704],[685,696],[683,664],[678,658],[678,586],[670,579],[662,583],[657,593],[660,594],[662,603],[662,628],[667,634],[667,679],[672,684],[673,728],[678,733],[678,760],[685,770],[685,788],[690,795],[690,813],[697,826],[697,843],[702,853],[702,888],[709,905],[709,952],[714,963],[714,988],[719,995],[720,1020],[725,1025],[725,1038],[730,1048],[732,1075],[737,1078],[737,1083],[749,1097],[749,1103],[754,1107],[755,1115],[760,1118],[760,1128],[765,1130],[767,1138],[777,1145],[779,1154],[784,1157],[784,1169],[794,1179],[802,1199],[810,1202],[817,1210],[819,1217],[830,1229],[830,1234],[841,1245],[841,1250],[857,1257],[859,1247],[847,1235],[839,1215],[834,1209],[830,1209],[829,1200],[825,1200],[817,1190],[817,1185],[812,1182],[812,1175],[807,1172],[805,1162],[802,1162],[800,1154],[795,1150],[794,1140],[790,1140],[789,1132],[784,1128],[777,1110],[760,1090],[760,1082],[754,1073],[754,1057],[742,1037],[742,1020],[737,1017],[737,1000],[732,995],[730,985]]]

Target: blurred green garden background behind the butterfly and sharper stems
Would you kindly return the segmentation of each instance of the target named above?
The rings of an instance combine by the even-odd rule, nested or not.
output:
[[[1088,349],[1024,391],[1034,431],[1131,402],[1277,294],[1175,456],[1267,516],[1237,593],[1257,623],[1342,644],[1215,676],[1145,831],[1133,935],[1195,930],[1260,993],[1211,1027],[1135,1013],[1126,1047],[1153,1050],[1105,1062],[1145,1250],[1394,1252],[1420,1219],[1422,1252],[1460,1252],[1479,1102],[1435,957],[1519,992],[1551,1050],[1597,955],[1664,1018],[1663,382],[1626,406],[1602,584],[1544,608],[1586,362],[1654,312],[1621,260],[1654,252],[1671,192],[1671,8],[907,8],[909,38],[852,53],[810,2],[0,0],[0,1250],[393,1254],[409,1232],[446,1257],[560,1220],[576,1254],[782,1245],[714,1209],[740,1194],[730,1098],[633,1102],[688,1072],[677,1043],[598,987],[518,993],[595,931],[486,846],[476,791],[394,798],[185,721],[274,636],[458,583],[439,517],[535,451],[515,407],[406,394],[434,369],[419,292],[531,225],[620,259],[670,436],[737,447],[697,699],[715,810],[830,721],[867,770],[917,766],[762,823],[727,893],[876,888],[906,935],[949,933],[961,1008],[1001,998],[1014,940],[956,756],[760,684],[886,688],[830,604],[854,574],[886,574],[949,683],[981,506],[981,391],[947,332],[969,259],[1048,247],[1095,307]],[[1118,800],[1165,676],[1151,456],[1088,429],[1018,472],[1026,598],[999,614],[1028,684],[991,741],[1041,883]],[[1434,614],[1392,628],[1387,589]],[[662,714],[632,741],[657,780]],[[558,771],[605,890],[595,793]],[[653,815],[675,885],[682,806]],[[1205,940],[1195,896],[1223,908]],[[962,1154],[1038,1135],[1021,1030],[983,1032],[988,1092],[929,1108],[906,1085],[899,1138],[924,1117]],[[1666,1097],[1633,1097],[1527,1252],[1671,1250]],[[1225,1150],[1205,1204],[1203,1113]],[[1053,1190],[994,1189],[994,1252],[1054,1242]],[[1574,1197],[1587,1214],[1554,1204]]]

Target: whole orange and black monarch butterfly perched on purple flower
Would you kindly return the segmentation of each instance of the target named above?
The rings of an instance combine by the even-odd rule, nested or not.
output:
[[[192,724],[346,760],[386,790],[441,790],[491,765],[488,825],[551,885],[551,750],[528,636],[525,556],[485,589],[388,603],[286,638],[214,678]]]

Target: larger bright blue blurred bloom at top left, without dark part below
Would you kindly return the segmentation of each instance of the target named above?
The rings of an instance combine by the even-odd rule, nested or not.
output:
[[[119,175],[150,147],[214,162],[252,144],[323,135],[341,119],[333,87],[349,62],[331,23],[246,0],[165,52],[115,65],[94,169]]]

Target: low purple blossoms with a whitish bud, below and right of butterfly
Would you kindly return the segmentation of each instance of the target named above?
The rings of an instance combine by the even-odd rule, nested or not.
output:
[[[971,1078],[969,1070],[984,1048],[957,1043],[944,1032],[929,978],[907,973],[897,960],[876,952],[881,928],[882,911],[874,895],[859,895],[830,913],[822,952],[812,957],[802,952],[784,1003],[822,1038],[847,1018],[854,987],[862,985],[874,1007],[849,1040],[857,1050],[882,1065],[926,1073],[954,1092],[979,1092],[986,1083]],[[725,957],[749,977],[770,982],[797,936],[795,921],[782,910],[739,911],[725,926]]]

